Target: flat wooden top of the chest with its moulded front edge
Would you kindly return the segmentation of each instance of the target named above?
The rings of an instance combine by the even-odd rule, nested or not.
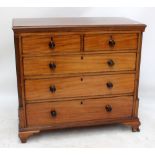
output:
[[[13,30],[45,30],[60,28],[102,28],[110,30],[141,30],[146,25],[122,17],[64,17],[64,18],[18,18],[13,19]]]

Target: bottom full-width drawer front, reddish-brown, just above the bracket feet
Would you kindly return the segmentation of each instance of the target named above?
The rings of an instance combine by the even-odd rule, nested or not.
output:
[[[127,118],[132,106],[132,96],[27,104],[27,123],[32,127]]]

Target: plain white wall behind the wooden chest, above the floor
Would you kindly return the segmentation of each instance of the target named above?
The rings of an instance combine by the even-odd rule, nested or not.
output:
[[[155,95],[155,8],[0,8],[0,97],[17,96],[13,18],[129,17],[147,24],[143,37],[140,96]],[[3,104],[3,103],[1,103]]]

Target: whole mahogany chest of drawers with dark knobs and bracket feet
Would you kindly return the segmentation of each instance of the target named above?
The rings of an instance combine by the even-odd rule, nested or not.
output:
[[[139,131],[145,27],[126,18],[14,19],[21,142],[111,123]]]

